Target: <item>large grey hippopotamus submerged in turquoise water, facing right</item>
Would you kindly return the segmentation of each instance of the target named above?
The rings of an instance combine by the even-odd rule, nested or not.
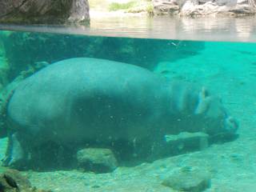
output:
[[[46,142],[146,141],[158,150],[166,134],[234,134],[238,128],[204,87],[97,58],[46,66],[20,82],[6,108],[7,165]]]

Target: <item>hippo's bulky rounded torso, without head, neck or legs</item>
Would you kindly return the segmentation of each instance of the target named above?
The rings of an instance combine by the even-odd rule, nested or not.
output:
[[[119,62],[72,58],[26,78],[8,116],[18,131],[58,140],[147,137],[165,121],[166,81]]]

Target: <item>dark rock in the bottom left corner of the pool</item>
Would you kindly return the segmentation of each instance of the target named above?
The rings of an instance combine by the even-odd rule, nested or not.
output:
[[[30,181],[23,177],[18,170],[6,170],[0,175],[1,192],[50,192],[50,190],[37,190]]]

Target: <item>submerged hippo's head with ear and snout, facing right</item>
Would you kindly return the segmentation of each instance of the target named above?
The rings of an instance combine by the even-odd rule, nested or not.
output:
[[[203,129],[207,134],[235,134],[238,122],[230,117],[218,97],[210,96],[206,90],[199,94],[199,104],[196,114],[203,119]]]

